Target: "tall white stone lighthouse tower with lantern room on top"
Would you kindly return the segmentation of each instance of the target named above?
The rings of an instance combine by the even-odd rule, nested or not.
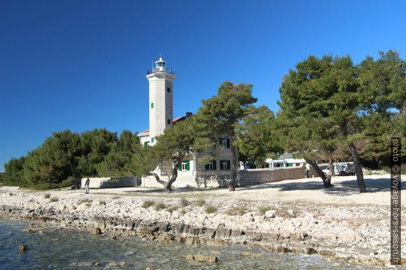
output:
[[[155,62],[155,67],[147,72],[149,81],[149,139],[155,144],[155,137],[172,126],[173,121],[173,80],[174,69],[166,67],[166,62]]]

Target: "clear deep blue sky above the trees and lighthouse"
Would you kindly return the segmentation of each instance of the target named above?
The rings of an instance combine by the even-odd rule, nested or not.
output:
[[[226,80],[277,111],[281,78],[308,55],[406,58],[402,1],[0,2],[0,170],[53,131],[148,128],[146,69],[176,70],[173,116]]]

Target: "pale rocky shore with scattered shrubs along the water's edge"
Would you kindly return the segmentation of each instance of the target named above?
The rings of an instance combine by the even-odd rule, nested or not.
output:
[[[109,234],[111,239],[139,235],[160,243],[246,244],[248,250],[261,246],[271,252],[390,266],[387,206],[50,193],[0,188],[1,215]]]

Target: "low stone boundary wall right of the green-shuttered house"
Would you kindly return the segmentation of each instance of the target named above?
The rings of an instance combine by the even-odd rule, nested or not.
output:
[[[240,186],[301,178],[305,178],[305,166],[303,164],[296,167],[245,169],[238,171],[238,183]]]

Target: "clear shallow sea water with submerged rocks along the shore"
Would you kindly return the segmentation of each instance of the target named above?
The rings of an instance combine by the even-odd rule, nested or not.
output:
[[[94,236],[70,228],[56,230],[46,227],[47,234],[27,233],[33,222],[0,219],[0,269],[136,269],[145,267],[169,269],[267,269],[277,270],[344,270],[382,269],[369,265],[329,261],[319,255],[278,254],[260,248],[247,250],[246,246],[190,247],[184,244],[160,244],[139,237],[120,237],[110,240],[106,236]],[[39,223],[38,223],[39,224]],[[38,230],[38,229],[37,229]],[[122,244],[128,243],[127,247]],[[20,253],[18,246],[25,244],[29,250]],[[186,254],[218,254],[222,261],[201,263],[186,260]],[[261,254],[252,259],[242,252]],[[93,264],[101,262],[101,266]],[[123,266],[110,267],[110,261],[125,261]]]

